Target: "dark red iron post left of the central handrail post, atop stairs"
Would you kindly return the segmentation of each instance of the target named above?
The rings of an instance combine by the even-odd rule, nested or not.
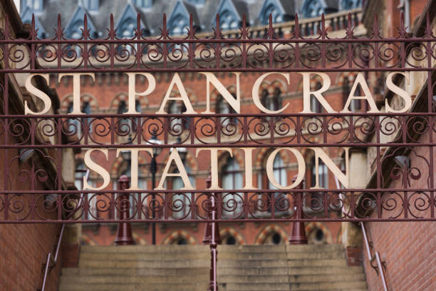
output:
[[[130,178],[127,175],[121,175],[118,179],[118,190],[126,190],[130,188]],[[119,194],[118,201],[120,220],[129,218],[130,213],[130,200],[129,195],[125,193]],[[117,238],[115,238],[115,245],[133,245],[132,228],[130,223],[118,223]]]

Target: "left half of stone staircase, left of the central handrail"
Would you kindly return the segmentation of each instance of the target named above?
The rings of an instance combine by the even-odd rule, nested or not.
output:
[[[78,268],[61,271],[60,291],[205,291],[208,245],[82,246]]]

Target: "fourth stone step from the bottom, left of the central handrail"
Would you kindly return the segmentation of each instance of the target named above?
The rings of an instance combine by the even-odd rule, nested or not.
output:
[[[150,260],[150,261],[137,261],[137,260],[119,260],[119,261],[105,261],[105,260],[79,260],[80,268],[147,268],[147,267],[210,267],[209,260]]]

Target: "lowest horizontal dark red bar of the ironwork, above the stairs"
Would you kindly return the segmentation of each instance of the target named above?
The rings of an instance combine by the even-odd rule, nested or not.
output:
[[[86,224],[97,224],[97,223],[259,223],[259,222],[276,222],[276,223],[292,223],[292,222],[303,222],[310,223],[311,221],[319,222],[384,222],[384,223],[395,223],[395,222],[422,222],[422,221],[436,221],[436,218],[247,218],[247,219],[182,219],[182,220],[161,220],[161,219],[144,219],[144,220],[0,220],[0,224],[33,224],[33,223],[86,223]]]

